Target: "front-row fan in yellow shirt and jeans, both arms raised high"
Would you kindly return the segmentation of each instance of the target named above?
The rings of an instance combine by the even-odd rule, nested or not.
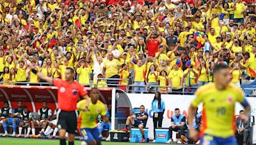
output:
[[[145,92],[145,73],[147,71],[147,63],[148,63],[148,53],[146,57],[146,61],[143,64],[142,60],[138,60],[136,63],[134,61],[134,57],[136,57],[136,53],[132,54],[131,57],[131,66],[134,66],[134,93]],[[136,64],[135,64],[136,63]]]

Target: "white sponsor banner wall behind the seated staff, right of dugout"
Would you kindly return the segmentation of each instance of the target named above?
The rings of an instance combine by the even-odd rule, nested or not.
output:
[[[148,127],[148,137],[149,139],[154,139],[154,132],[153,132],[153,112],[151,109],[151,102],[154,99],[154,93],[147,94],[147,93],[127,93],[132,107],[140,107],[141,105],[145,106],[145,111],[148,113],[148,121],[147,121],[147,127]],[[163,115],[163,125],[162,127],[168,128],[170,127],[171,118],[174,114],[174,109],[179,108],[180,113],[184,114],[186,118],[188,118],[188,107],[191,103],[191,100],[195,98],[195,95],[169,95],[169,94],[162,94],[161,98],[164,100],[165,104],[165,112]],[[248,97],[248,102],[252,106],[252,116],[255,116],[256,113],[256,106],[253,105],[256,102],[256,98],[254,97]],[[240,104],[236,104],[236,114],[239,114],[239,111],[243,109],[243,107]],[[202,104],[198,106],[198,112],[202,111]],[[175,138],[175,134],[173,134],[173,138]],[[256,142],[256,127],[253,128],[253,143]]]

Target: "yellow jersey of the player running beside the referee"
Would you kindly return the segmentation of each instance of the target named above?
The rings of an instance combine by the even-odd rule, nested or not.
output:
[[[107,114],[106,107],[100,100],[98,100],[96,104],[90,102],[88,111],[84,112],[82,109],[85,104],[85,99],[77,103],[77,109],[79,111],[78,121],[81,122],[81,128],[95,128],[97,127],[96,120],[98,115],[105,116]]]

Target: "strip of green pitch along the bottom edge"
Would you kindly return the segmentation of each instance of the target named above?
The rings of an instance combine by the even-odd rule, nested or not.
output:
[[[11,138],[0,137],[0,144],[3,145],[59,145],[57,139],[24,139],[24,138]],[[68,142],[67,142],[68,144]],[[142,145],[145,143],[130,143],[130,142],[102,142],[102,145]],[[81,141],[75,141],[75,145],[81,145]]]

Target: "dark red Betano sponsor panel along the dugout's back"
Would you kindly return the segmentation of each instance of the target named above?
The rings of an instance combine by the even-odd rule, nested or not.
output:
[[[90,90],[91,88],[86,88]],[[100,100],[110,108],[113,88],[99,88],[102,96]],[[0,108],[4,100],[10,102],[12,109],[17,108],[17,101],[22,100],[23,106],[30,111],[37,112],[42,107],[42,100],[47,101],[47,106],[54,111],[58,107],[58,87],[56,86],[6,86],[0,85]]]

